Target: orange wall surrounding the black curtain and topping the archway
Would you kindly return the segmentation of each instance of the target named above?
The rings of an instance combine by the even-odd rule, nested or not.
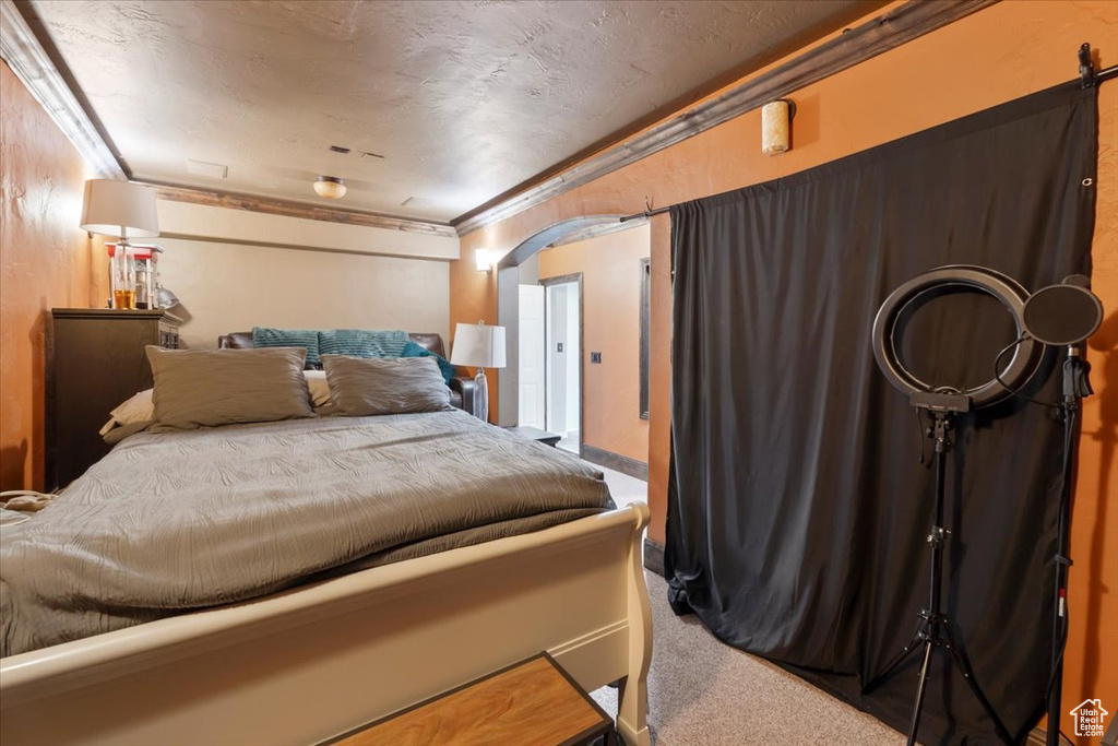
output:
[[[835,160],[996,104],[1077,74],[1089,40],[1103,67],[1118,64],[1118,2],[1002,2],[795,92],[793,150],[760,154],[760,113],[733,121],[464,236],[451,267],[451,321],[495,321],[494,280],[474,270],[477,249],[506,252],[558,220],[637,213],[695,199]],[[779,64],[776,63],[776,64]],[[1084,406],[1072,527],[1071,638],[1065,701],[1101,697],[1118,706],[1118,83],[1100,88],[1100,170],[1095,290],[1109,310],[1092,344],[1097,395]],[[653,324],[650,422],[650,536],[663,539],[667,470],[670,226],[652,225]],[[1064,730],[1071,733],[1069,721]],[[1086,743],[1086,742],[1084,742]]]

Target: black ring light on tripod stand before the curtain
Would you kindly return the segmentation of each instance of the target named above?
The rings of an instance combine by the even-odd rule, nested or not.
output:
[[[916,744],[917,733],[920,729],[931,655],[937,648],[945,648],[950,654],[950,660],[958,665],[975,699],[993,721],[998,737],[1006,744],[1012,743],[1005,725],[975,681],[970,662],[955,641],[950,615],[942,610],[944,545],[950,533],[944,528],[945,476],[947,453],[951,447],[949,432],[955,415],[988,406],[1011,396],[1012,391],[1006,387],[1020,388],[1036,372],[1042,348],[1034,344],[1031,338],[1024,339],[1014,351],[1008,368],[999,376],[1001,381],[995,378],[982,386],[960,390],[920,380],[904,367],[898,356],[898,320],[907,309],[912,308],[921,299],[953,289],[976,290],[993,295],[1013,315],[1017,338],[1025,336],[1022,311],[1029,293],[1001,273],[969,265],[938,267],[902,284],[885,299],[873,321],[873,355],[878,365],[889,383],[909,396],[909,403],[913,407],[927,409],[931,414],[932,425],[928,428],[928,437],[935,444],[935,501],[931,531],[927,539],[931,549],[928,607],[920,611],[917,631],[909,643],[862,690],[863,693],[875,690],[892,677],[911,654],[922,649],[920,677],[917,682],[916,701],[912,705],[912,718],[909,723],[908,746]]]

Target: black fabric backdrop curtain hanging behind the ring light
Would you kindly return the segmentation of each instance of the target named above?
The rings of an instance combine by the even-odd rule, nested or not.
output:
[[[1089,274],[1096,159],[1096,91],[1069,84],[672,209],[665,563],[716,635],[907,730],[917,657],[861,690],[927,603],[931,453],[877,368],[873,318],[945,264],[1030,291]],[[956,293],[910,317],[901,349],[925,380],[974,386],[1013,339],[996,300]],[[1058,400],[1058,365],[1049,351],[1027,393]],[[1023,736],[1049,672],[1062,427],[1013,399],[959,417],[954,440],[945,608]],[[945,660],[921,740],[997,743]]]

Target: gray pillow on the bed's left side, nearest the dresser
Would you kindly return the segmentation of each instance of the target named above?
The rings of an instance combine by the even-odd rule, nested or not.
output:
[[[148,346],[152,432],[313,417],[306,350],[165,350]]]

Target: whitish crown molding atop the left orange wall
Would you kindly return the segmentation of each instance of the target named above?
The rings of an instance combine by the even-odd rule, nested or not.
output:
[[[127,178],[12,0],[0,0],[0,58],[98,177]]]

